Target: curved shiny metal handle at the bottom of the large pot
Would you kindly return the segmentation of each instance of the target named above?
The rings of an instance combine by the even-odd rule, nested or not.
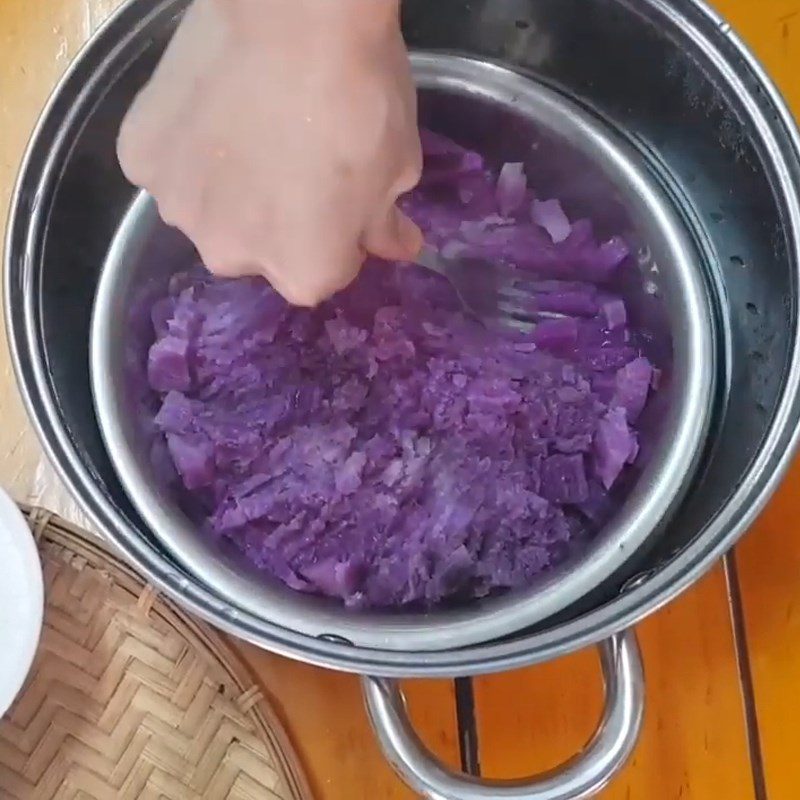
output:
[[[455,773],[428,752],[406,713],[397,681],[365,677],[364,697],[383,753],[408,785],[429,800],[582,800],[594,797],[623,767],[639,738],[644,672],[636,635],[623,631],[600,645],[606,703],[582,753],[523,780],[484,781]]]

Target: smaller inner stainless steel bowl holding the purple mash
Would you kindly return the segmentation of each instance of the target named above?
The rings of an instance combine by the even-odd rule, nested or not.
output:
[[[658,425],[647,431],[646,464],[623,509],[585,554],[524,591],[425,614],[345,610],[335,601],[267,582],[202,536],[174,499],[159,490],[150,442],[137,425],[132,400],[138,397],[131,385],[146,386],[146,360],[141,347],[137,351],[140,332],[131,309],[141,313],[137,297],[142,290],[163,287],[168,271],[185,268],[192,260],[191,246],[160,222],[146,195],[133,203],[114,236],[100,275],[90,334],[92,389],[111,461],[134,507],[188,572],[232,606],[283,628],[394,651],[447,650],[498,639],[563,610],[622,569],[659,532],[688,486],[708,429],[714,379],[711,311],[697,269],[700,257],[638,153],[589,114],[508,70],[447,55],[417,54],[414,66],[428,113],[457,124],[461,141],[472,144],[481,129],[508,118],[526,142],[523,155],[535,143],[537,158],[558,159],[564,165],[577,195],[573,202],[602,208],[607,215],[608,198],[614,198],[619,211],[612,224],[649,254],[643,274],[636,276],[638,283],[628,290],[628,305],[650,311],[652,296],[642,287],[657,280],[669,317],[664,327],[679,331],[671,357],[670,348],[662,347],[664,388]],[[477,125],[468,125],[467,119]],[[490,142],[481,144],[492,160],[505,158]],[[579,170],[579,188],[568,169]],[[585,180],[589,170],[595,172],[591,184]],[[529,174],[537,174],[535,165]],[[668,336],[669,331],[663,333]],[[128,374],[132,352],[139,352],[138,375]]]

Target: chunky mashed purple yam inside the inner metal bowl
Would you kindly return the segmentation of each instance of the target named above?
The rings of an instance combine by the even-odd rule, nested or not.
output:
[[[424,148],[404,206],[429,242],[535,271],[565,319],[490,332],[441,278],[381,263],[314,311],[201,267],[152,309],[158,468],[265,573],[350,607],[481,597],[562,562],[616,507],[656,377],[598,286],[621,239],[535,200],[519,165],[498,182],[443,137]]]

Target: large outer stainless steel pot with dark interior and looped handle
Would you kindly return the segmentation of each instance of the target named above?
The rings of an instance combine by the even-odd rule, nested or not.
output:
[[[127,499],[92,412],[91,307],[133,199],[114,135],[184,5],[125,5],[72,66],[26,156],[8,230],[6,313],[19,381],[48,452],[97,524],[184,605],[271,650],[382,676],[366,680],[369,708],[384,750],[420,791],[590,796],[624,762],[641,720],[641,664],[626,631],[731,546],[795,445],[800,148],[788,112],[730,29],[693,0],[406,1],[413,46],[534,73],[639,153],[692,232],[716,307],[718,389],[698,475],[638,563],[557,618],[497,641],[427,652],[354,646],[235,607],[184,571]],[[596,739],[558,774],[524,784],[486,786],[433,763],[388,681],[511,669],[603,641],[608,708]]]

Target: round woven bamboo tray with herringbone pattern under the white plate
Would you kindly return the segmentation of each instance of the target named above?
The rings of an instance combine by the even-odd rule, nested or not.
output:
[[[311,800],[282,726],[222,637],[79,530],[24,510],[45,623],[0,722],[0,798]]]

